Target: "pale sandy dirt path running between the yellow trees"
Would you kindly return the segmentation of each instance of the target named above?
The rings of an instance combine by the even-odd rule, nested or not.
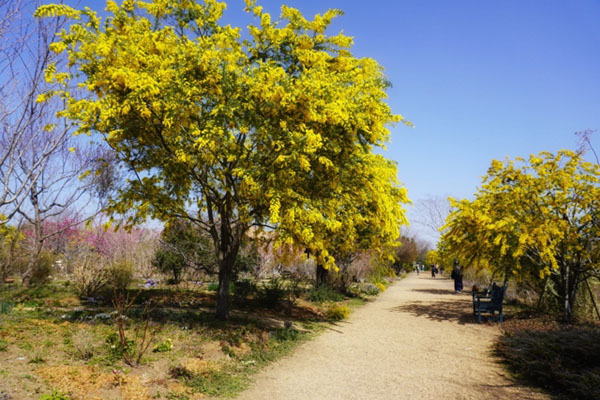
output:
[[[293,355],[238,399],[547,399],[493,361],[497,326],[473,323],[471,296],[411,274]]]

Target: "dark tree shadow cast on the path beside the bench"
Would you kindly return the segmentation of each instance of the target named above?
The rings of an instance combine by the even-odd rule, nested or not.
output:
[[[437,302],[417,301],[390,309],[393,312],[409,313],[433,321],[457,321],[461,325],[477,323],[471,304],[466,301],[445,300]]]

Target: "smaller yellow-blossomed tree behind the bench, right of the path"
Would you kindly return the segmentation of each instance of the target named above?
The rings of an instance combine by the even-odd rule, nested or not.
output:
[[[506,279],[549,277],[564,317],[600,267],[600,169],[580,155],[542,152],[493,161],[473,201],[452,199],[442,248]]]

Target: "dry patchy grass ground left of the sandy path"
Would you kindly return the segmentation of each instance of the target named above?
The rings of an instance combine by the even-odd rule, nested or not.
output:
[[[0,301],[13,305],[1,315],[0,397],[10,392],[12,398],[38,398],[53,391],[74,400],[231,397],[327,321],[325,305],[306,299],[281,310],[246,298],[243,305],[233,302],[231,319],[224,322],[213,316],[214,293],[202,287],[132,294],[136,302],[126,328],[148,318],[162,327],[152,345],[173,345],[146,352],[135,368],[125,365],[114,346],[109,297],[80,300],[71,286],[57,283],[0,291]],[[153,308],[148,315],[145,302]],[[284,321],[293,328],[284,328]]]

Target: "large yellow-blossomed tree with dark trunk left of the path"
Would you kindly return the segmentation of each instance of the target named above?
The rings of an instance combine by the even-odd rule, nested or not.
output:
[[[350,246],[368,223],[381,223],[373,246],[397,237],[408,200],[395,165],[373,150],[403,118],[385,103],[377,62],[352,56],[351,38],[326,34],[340,11],[308,20],[283,6],[272,21],[247,1],[258,23],[244,39],[219,24],[225,3],[215,0],[106,4],[104,20],[88,8],[37,10],[72,19],[52,44],[69,69],[47,71],[64,90],[46,97],[61,96],[59,115],[101,136],[131,173],[109,211],[130,226],[186,218],[210,234],[218,317],[253,226],[325,268],[335,266],[332,237]]]

